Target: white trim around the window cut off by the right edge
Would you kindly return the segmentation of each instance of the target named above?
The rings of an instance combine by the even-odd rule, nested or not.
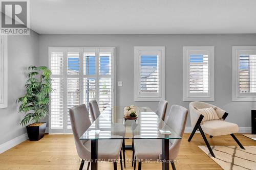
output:
[[[232,101],[256,102],[256,93],[243,94],[239,92],[239,55],[241,52],[254,54],[256,46],[232,46]]]

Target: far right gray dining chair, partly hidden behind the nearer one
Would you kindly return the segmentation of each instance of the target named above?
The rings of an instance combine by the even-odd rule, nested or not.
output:
[[[158,115],[158,117],[160,117],[162,120],[166,121],[168,115],[166,115],[166,109],[167,109],[167,105],[168,102],[165,100],[160,100],[160,102],[158,103],[157,106],[157,111],[156,114]],[[132,142],[132,150],[133,150],[133,154],[132,154],[132,166],[134,163],[134,141]]]

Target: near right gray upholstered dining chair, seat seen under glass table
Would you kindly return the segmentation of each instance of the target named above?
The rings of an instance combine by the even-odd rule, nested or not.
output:
[[[182,106],[172,105],[166,124],[172,128],[179,136],[183,136],[188,110]],[[161,160],[162,157],[162,140],[161,139],[134,139],[135,162],[138,160],[138,169],[141,170],[141,163],[145,160]],[[174,160],[178,156],[181,145],[181,139],[169,140],[169,159],[173,169],[175,168]]]

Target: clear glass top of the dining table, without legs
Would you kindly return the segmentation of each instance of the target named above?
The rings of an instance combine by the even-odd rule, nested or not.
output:
[[[124,107],[114,107],[112,113],[123,115]],[[80,139],[181,139],[181,137],[164,123],[150,108],[136,107],[136,120],[113,120],[106,111],[100,114]]]

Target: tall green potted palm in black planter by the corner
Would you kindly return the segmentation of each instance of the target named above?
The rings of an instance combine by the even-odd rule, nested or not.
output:
[[[39,122],[48,115],[49,93],[52,89],[52,72],[46,66],[29,66],[27,74],[26,94],[17,100],[21,103],[18,112],[24,112],[25,116],[20,125],[28,125],[29,140],[39,140],[45,135],[46,122]]]

